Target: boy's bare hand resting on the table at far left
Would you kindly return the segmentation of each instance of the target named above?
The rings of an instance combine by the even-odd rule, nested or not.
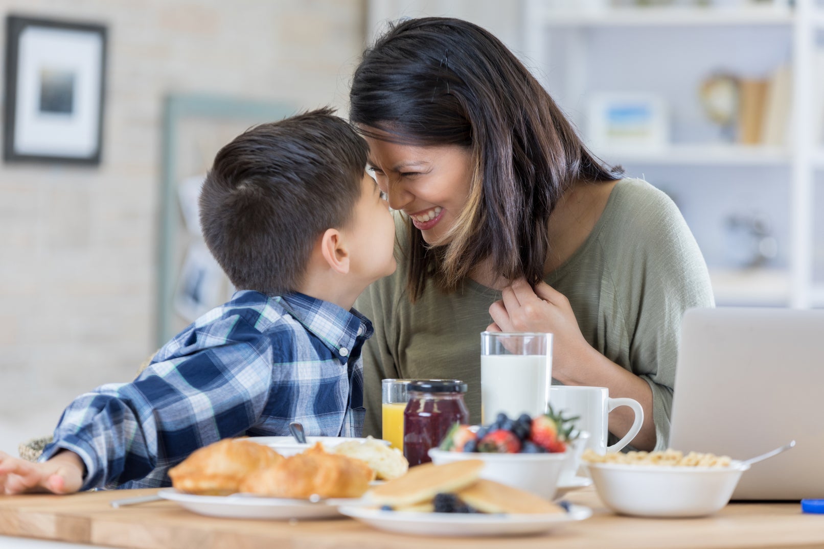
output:
[[[0,452],[0,494],[49,491],[69,494],[83,485],[83,461],[63,450],[44,463],[31,463]]]

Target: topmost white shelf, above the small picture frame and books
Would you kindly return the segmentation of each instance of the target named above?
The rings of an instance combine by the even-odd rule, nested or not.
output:
[[[563,9],[546,7],[548,27],[577,26],[789,26],[789,7],[604,7]]]

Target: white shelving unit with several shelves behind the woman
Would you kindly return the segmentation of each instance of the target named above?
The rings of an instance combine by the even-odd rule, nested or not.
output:
[[[704,142],[676,142],[656,151],[595,150],[605,161],[667,169],[677,179],[679,170],[695,168],[742,168],[750,170],[786,170],[789,197],[789,266],[775,269],[733,271],[711,269],[719,303],[747,305],[784,305],[796,308],[824,307],[824,284],[812,279],[813,185],[817,170],[824,170],[824,147],[815,142],[814,53],[817,32],[824,30],[824,11],[812,0],[795,0],[794,7],[776,5],[745,7],[604,7],[600,9],[553,8],[543,0],[523,2],[523,54],[547,89],[558,87],[554,94],[562,109],[578,115],[582,125],[582,106],[591,86],[587,67],[597,51],[592,47],[594,33],[615,30],[627,35],[659,27],[672,32],[693,32],[705,36],[705,30],[773,29],[789,35],[785,47],[792,59],[792,97],[789,123],[789,147],[750,147]],[[550,38],[564,33],[564,67],[552,64]],[[655,35],[667,40],[666,35]],[[708,39],[711,40],[711,39]],[[667,48],[667,43],[650,44]],[[630,63],[631,59],[627,59]],[[653,68],[654,71],[654,68]],[[549,76],[552,81],[550,82]],[[657,74],[653,77],[658,77]],[[551,86],[550,86],[551,84]],[[695,83],[697,87],[697,82]],[[557,91],[557,90],[556,90]],[[625,91],[625,90],[621,90]],[[637,91],[644,91],[638,89]],[[564,104],[564,99],[567,101]],[[654,184],[655,181],[652,181]]]

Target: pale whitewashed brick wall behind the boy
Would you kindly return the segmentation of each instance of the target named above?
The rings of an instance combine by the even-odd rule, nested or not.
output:
[[[49,432],[73,396],[129,379],[155,349],[162,98],[331,104],[345,115],[364,9],[363,0],[0,0],[3,16],[109,29],[101,165],[0,165],[0,450]]]

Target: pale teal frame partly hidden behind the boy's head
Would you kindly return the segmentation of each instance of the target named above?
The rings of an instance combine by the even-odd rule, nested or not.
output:
[[[235,291],[200,230],[198,198],[215,154],[246,129],[296,112],[296,105],[245,97],[166,96],[157,234],[157,347]]]

